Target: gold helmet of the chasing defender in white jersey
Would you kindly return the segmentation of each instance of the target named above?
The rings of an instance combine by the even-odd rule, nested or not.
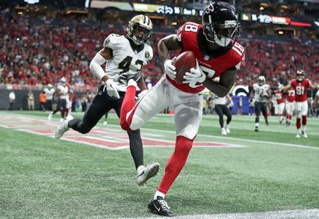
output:
[[[138,15],[128,22],[128,38],[133,40],[135,45],[142,45],[150,38],[153,33],[153,24],[149,17]]]

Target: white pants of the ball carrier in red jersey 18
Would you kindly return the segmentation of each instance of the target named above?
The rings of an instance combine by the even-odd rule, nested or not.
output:
[[[130,129],[139,129],[167,106],[174,109],[177,135],[194,139],[201,123],[203,96],[180,91],[166,79],[165,74],[128,113],[127,118],[134,113]]]

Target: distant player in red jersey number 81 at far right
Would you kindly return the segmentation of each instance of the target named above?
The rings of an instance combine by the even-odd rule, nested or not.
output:
[[[307,113],[308,113],[308,101],[307,101],[307,90],[315,89],[315,86],[311,84],[309,79],[305,79],[306,71],[303,69],[297,70],[296,79],[292,79],[290,84],[285,86],[284,91],[289,91],[290,89],[295,90],[295,101],[296,101],[296,127],[297,135],[296,137],[308,137],[306,134],[307,125]],[[302,127],[301,127],[302,118]]]

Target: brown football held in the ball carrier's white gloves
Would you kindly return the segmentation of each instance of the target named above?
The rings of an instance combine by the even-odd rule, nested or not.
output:
[[[183,77],[185,73],[189,72],[189,69],[192,67],[196,67],[196,57],[194,52],[182,52],[175,60],[174,67],[176,67],[175,82],[177,82],[177,84],[183,84]]]

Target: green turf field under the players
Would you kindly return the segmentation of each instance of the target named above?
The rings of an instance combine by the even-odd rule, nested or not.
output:
[[[127,147],[108,150],[26,132],[41,123],[54,131],[58,116],[45,125],[46,116],[0,111],[0,218],[153,216],[147,201],[174,147],[145,147],[145,164],[157,161],[162,168],[138,187]],[[294,125],[277,121],[270,118],[269,126],[262,121],[255,133],[254,117],[234,116],[231,133],[224,137],[217,116],[204,116],[198,141],[242,147],[194,147],[167,194],[172,211],[215,215],[319,208],[319,118],[308,118],[307,139],[296,139]],[[115,114],[109,115],[109,125],[102,122],[97,128],[122,132]],[[174,130],[174,118],[159,115],[141,133],[173,141]]]

